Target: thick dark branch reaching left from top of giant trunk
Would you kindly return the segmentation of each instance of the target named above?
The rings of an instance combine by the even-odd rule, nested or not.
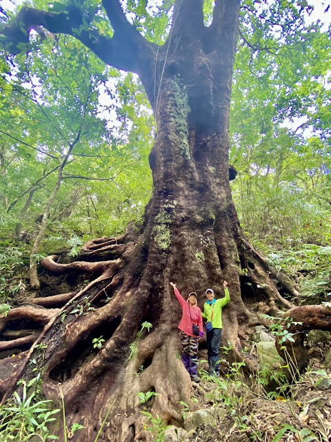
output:
[[[141,54],[146,52],[154,57],[151,50],[154,44],[148,42],[126,19],[118,0],[105,0],[103,6],[114,27],[114,36],[101,35],[96,28],[80,30],[82,11],[72,8],[69,12],[55,13],[35,8],[23,7],[15,19],[1,26],[0,33],[5,35],[5,46],[13,55],[21,52],[19,44],[29,43],[30,30],[43,26],[53,33],[72,35],[83,45],[90,48],[97,57],[114,68],[137,73]]]

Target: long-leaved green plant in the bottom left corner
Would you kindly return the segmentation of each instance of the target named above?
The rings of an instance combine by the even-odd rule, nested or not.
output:
[[[27,396],[26,385],[23,385],[22,398],[14,396],[0,407],[1,441],[30,441],[32,436],[38,440],[59,439],[49,433],[48,425],[55,421],[54,414],[60,410],[51,410],[52,401],[36,401],[36,393]]]

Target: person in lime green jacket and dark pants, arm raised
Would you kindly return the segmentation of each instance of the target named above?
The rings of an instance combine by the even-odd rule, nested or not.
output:
[[[208,364],[209,374],[219,376],[219,346],[221,345],[222,334],[222,309],[230,301],[228,282],[223,282],[225,296],[221,299],[214,298],[214,291],[207,289],[205,296],[207,302],[204,304],[202,317],[212,323],[212,330],[207,332]]]

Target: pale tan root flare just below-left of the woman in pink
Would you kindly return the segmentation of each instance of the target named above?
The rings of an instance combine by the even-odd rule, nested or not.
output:
[[[163,335],[165,337],[165,335]],[[150,336],[145,338],[150,340]],[[143,344],[143,343],[142,343]],[[146,346],[144,343],[143,347]],[[121,441],[126,441],[130,434],[130,427],[134,424],[137,430],[136,439],[150,440],[150,432],[144,430],[146,416],[141,411],[150,411],[153,415],[159,416],[165,423],[181,425],[181,405],[184,401],[190,410],[196,410],[199,405],[192,401],[192,383],[190,375],[181,363],[180,342],[177,332],[172,332],[163,340],[163,345],[153,348],[152,360],[148,367],[139,370],[141,360],[130,361],[126,368],[126,379],[130,380],[123,387],[121,401],[117,405],[119,410],[132,410],[126,419],[121,417]],[[140,354],[139,347],[139,356]],[[148,403],[139,403],[138,392],[155,392]]]

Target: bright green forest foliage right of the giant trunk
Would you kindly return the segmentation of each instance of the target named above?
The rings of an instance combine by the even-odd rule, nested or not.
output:
[[[232,191],[248,236],[277,250],[325,245],[331,227],[330,38],[321,22],[307,24],[311,9],[300,1],[248,1],[241,8]]]

